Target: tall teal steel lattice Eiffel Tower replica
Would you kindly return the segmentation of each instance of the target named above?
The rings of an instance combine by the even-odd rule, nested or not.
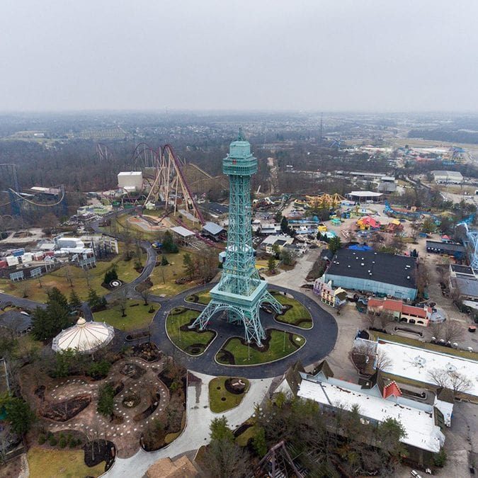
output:
[[[266,338],[261,324],[261,305],[267,302],[275,312],[282,306],[268,292],[267,283],[256,270],[251,228],[251,176],[257,172],[257,159],[251,144],[239,137],[229,146],[222,160],[222,172],[229,176],[229,229],[226,259],[220,282],[212,288],[211,300],[191,328],[205,329],[213,315],[226,312],[227,321],[244,326],[246,342],[261,346]]]

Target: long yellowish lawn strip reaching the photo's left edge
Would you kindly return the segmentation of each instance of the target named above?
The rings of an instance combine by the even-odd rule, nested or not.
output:
[[[114,256],[112,261],[103,262],[98,261],[96,267],[87,271],[88,277],[86,277],[85,271],[76,266],[63,266],[58,271],[42,275],[40,283],[38,279],[23,280],[18,283],[13,283],[8,279],[0,279],[0,289],[4,290],[6,294],[15,295],[16,297],[23,297],[24,292],[27,292],[28,299],[35,300],[36,302],[45,302],[47,300],[47,290],[50,288],[58,288],[67,297],[69,296],[72,288],[79,295],[80,299],[86,300],[88,297],[88,290],[91,287],[96,290],[98,295],[105,295],[108,290],[101,287],[103,278],[113,265],[118,272],[118,278],[123,282],[131,282],[136,278],[139,273],[135,271],[135,258],[130,261],[123,261],[123,245],[120,244],[120,254]],[[141,251],[141,262],[144,265],[146,261],[146,254]],[[73,287],[70,286],[68,275],[72,279]]]

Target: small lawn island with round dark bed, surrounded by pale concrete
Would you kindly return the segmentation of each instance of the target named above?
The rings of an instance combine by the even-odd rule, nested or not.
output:
[[[238,406],[249,390],[249,380],[242,377],[216,377],[209,382],[209,406],[213,413]]]

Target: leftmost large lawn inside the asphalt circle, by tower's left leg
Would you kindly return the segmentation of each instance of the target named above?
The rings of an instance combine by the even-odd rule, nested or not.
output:
[[[190,353],[190,355],[200,355],[203,353],[207,345],[215,337],[215,332],[210,330],[199,332],[180,329],[181,326],[186,326],[198,315],[199,312],[197,310],[184,309],[181,314],[169,314],[166,317],[166,331],[169,338],[171,338],[174,345],[186,353]]]

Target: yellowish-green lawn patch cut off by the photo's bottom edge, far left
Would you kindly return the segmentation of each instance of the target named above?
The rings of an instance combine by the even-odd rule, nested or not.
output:
[[[83,450],[47,450],[32,447],[27,453],[30,477],[81,478],[98,477],[105,472],[105,463],[87,467]]]

